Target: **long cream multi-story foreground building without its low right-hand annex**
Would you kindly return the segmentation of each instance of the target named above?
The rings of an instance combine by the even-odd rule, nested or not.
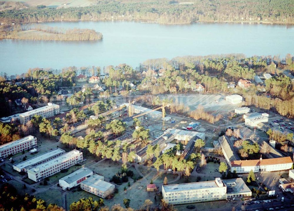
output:
[[[226,192],[227,187],[220,178],[207,182],[162,186],[163,200],[173,205],[224,200]]]

